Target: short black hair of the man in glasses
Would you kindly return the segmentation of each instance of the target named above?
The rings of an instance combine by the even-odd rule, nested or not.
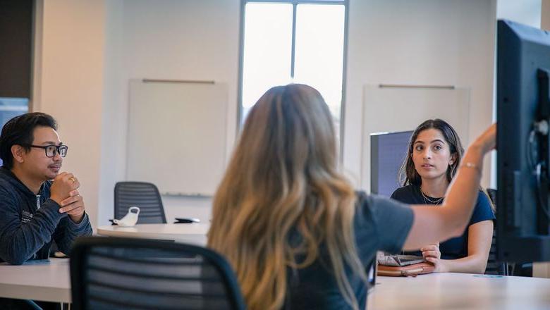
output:
[[[33,132],[39,126],[50,127],[57,130],[56,120],[46,113],[33,112],[16,116],[2,128],[0,135],[0,159],[3,166],[11,169],[13,167],[13,155],[11,147],[20,145],[29,151],[29,144],[35,139]]]

